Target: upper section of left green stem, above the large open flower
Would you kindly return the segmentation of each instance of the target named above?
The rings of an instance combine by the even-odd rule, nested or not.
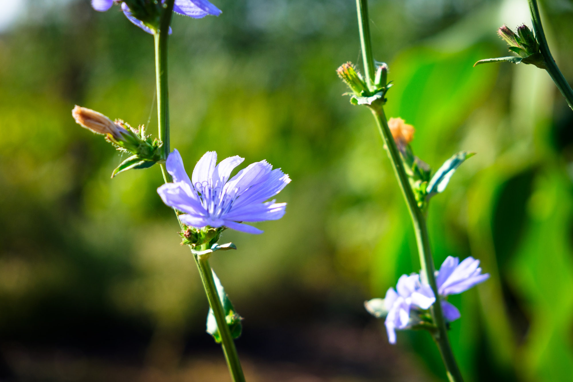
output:
[[[163,160],[169,155],[169,87],[167,83],[167,48],[169,41],[169,26],[173,15],[175,0],[168,0],[167,8],[159,21],[159,29],[155,30],[155,84],[157,88],[157,118],[159,139],[163,142]]]

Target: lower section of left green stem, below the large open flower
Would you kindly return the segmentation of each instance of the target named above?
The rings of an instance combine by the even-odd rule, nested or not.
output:
[[[206,245],[204,245],[204,247],[205,248],[199,249],[199,251],[207,249]],[[213,309],[215,321],[217,321],[217,328],[219,329],[219,334],[221,334],[221,346],[223,348],[223,353],[225,353],[229,373],[231,374],[234,382],[245,382],[245,376],[243,375],[243,370],[241,368],[241,361],[239,360],[237,348],[235,348],[235,342],[231,336],[229,325],[227,325],[227,321],[225,319],[225,311],[223,310],[221,299],[219,299],[219,295],[217,293],[217,287],[215,286],[215,281],[213,279],[213,272],[209,266],[209,260],[205,255],[194,256],[197,268],[199,268],[199,274],[201,274],[203,288],[205,288],[205,293],[209,300],[209,306]]]

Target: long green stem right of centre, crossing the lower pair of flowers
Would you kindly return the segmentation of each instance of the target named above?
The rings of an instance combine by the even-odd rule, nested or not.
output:
[[[364,57],[364,71],[366,72],[366,79],[368,81],[368,79],[372,77],[372,74],[374,74],[374,58],[372,57],[370,25],[368,24],[367,9],[367,0],[356,0],[356,10],[358,11],[360,28],[360,42],[362,44]],[[368,82],[368,84],[370,85],[370,82]],[[376,124],[378,125],[378,130],[382,136],[384,147],[386,147],[388,158],[390,158],[390,162],[392,163],[394,174],[398,180],[404,199],[406,200],[412,224],[414,225],[416,242],[418,244],[422,282],[429,284],[431,289],[434,291],[434,295],[437,297],[436,302],[430,307],[434,324],[438,329],[432,334],[432,336],[438,345],[439,352],[442,356],[442,360],[444,361],[448,379],[451,382],[462,382],[464,379],[462,378],[460,369],[456,363],[456,358],[454,358],[452,346],[450,346],[448,331],[446,329],[446,321],[444,319],[444,313],[442,312],[441,303],[439,302],[438,288],[434,276],[434,259],[431,255],[430,238],[427,232],[426,219],[422,210],[418,207],[414,192],[410,186],[410,182],[408,181],[408,176],[402,164],[398,147],[394,142],[394,138],[390,132],[390,127],[388,127],[383,107],[381,105],[371,106],[370,109],[374,115]]]

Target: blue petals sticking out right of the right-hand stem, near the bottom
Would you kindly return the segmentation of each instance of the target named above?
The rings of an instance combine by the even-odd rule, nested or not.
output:
[[[438,294],[444,298],[450,294],[462,293],[488,278],[488,273],[481,274],[480,260],[469,256],[460,263],[459,258],[448,256],[439,271],[436,271],[435,282]],[[441,299],[441,305],[446,320],[451,322],[460,318],[460,311],[457,307],[445,299]]]

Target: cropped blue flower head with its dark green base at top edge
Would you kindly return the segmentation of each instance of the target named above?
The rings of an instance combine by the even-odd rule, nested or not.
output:
[[[160,3],[150,0],[92,0],[92,7],[96,11],[105,12],[112,7],[113,3],[121,3],[121,10],[129,21],[147,33],[153,34],[154,29],[159,25],[164,2],[165,0]],[[173,11],[193,18],[202,18],[208,14],[214,16],[221,14],[221,10],[207,0],[175,0]]]

